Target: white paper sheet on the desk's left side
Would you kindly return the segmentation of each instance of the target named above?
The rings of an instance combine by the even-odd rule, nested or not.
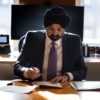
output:
[[[4,86],[0,87],[0,91],[6,91],[6,92],[16,92],[16,93],[29,93],[32,92],[37,86]]]

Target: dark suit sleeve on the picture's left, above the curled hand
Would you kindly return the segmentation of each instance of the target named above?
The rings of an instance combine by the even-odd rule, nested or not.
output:
[[[25,40],[22,46],[22,50],[20,56],[17,59],[16,64],[14,65],[14,74],[20,77],[21,79],[25,79],[23,76],[23,72],[26,67],[28,67],[28,52],[30,44],[30,34],[26,34]]]

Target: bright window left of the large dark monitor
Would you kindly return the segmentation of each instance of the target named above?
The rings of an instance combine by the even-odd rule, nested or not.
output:
[[[12,3],[13,0],[0,0],[0,34],[10,34]]]

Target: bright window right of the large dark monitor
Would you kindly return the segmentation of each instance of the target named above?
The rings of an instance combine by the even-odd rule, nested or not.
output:
[[[100,0],[84,0],[84,42],[100,44]]]

